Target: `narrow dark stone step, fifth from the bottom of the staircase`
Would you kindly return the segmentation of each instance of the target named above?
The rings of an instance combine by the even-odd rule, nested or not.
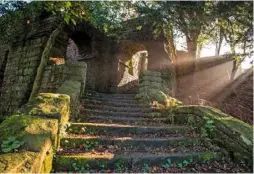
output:
[[[156,113],[156,112],[153,112]],[[83,109],[82,115],[100,115],[100,116],[116,116],[116,117],[146,117],[149,118],[151,113],[143,112],[114,112],[107,110]]]

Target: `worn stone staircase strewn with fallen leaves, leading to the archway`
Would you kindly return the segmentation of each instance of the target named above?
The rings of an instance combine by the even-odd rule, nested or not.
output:
[[[149,117],[156,109],[134,96],[87,92],[78,122],[61,139],[54,172],[193,172],[188,166],[221,159],[190,125]]]

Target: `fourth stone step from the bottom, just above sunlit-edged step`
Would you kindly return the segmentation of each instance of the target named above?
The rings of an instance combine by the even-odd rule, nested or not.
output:
[[[84,118],[84,120],[91,123],[162,125],[167,119],[166,118],[142,118],[142,117],[137,118],[137,117],[89,115],[86,118]],[[84,120],[81,119],[81,121],[84,121]]]

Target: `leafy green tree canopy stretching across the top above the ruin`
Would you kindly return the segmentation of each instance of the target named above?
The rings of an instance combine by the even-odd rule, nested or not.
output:
[[[6,1],[0,3],[1,40],[10,40],[14,27],[42,13],[58,15],[76,25],[89,21],[104,32],[114,32],[122,21],[146,16],[153,23],[155,36],[163,33],[172,41],[180,31],[187,50],[196,58],[207,42],[221,47],[224,39],[232,53],[241,48],[253,54],[253,2],[251,1]],[[137,26],[140,30],[142,26]],[[119,34],[119,33],[117,33]],[[172,46],[171,44],[171,46]],[[169,45],[170,46],[170,45]],[[175,49],[175,48],[174,48]],[[219,49],[219,48],[218,48]],[[240,58],[243,59],[243,56]]]

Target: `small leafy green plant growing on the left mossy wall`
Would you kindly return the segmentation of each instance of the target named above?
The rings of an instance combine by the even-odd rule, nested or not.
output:
[[[4,140],[1,144],[1,151],[4,153],[12,152],[24,145],[24,141],[18,141],[16,137],[10,136],[7,140]]]

